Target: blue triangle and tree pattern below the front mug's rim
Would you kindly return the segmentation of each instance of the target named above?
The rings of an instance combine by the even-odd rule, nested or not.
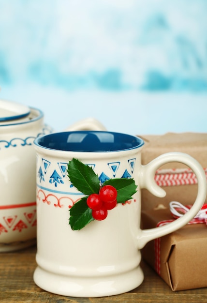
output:
[[[131,178],[134,170],[136,158],[128,160],[128,167],[123,170],[118,178]],[[58,162],[55,169],[49,169],[51,162],[42,158],[41,165],[37,171],[37,177],[40,184],[48,180],[49,183],[58,187],[60,184],[64,184],[64,178],[67,174],[68,163]],[[88,166],[95,168],[95,164],[87,164]],[[105,181],[117,177],[118,169],[120,169],[120,162],[107,163],[107,172],[102,171],[99,175],[99,180],[103,184]],[[46,175],[48,176],[46,178]],[[68,179],[67,179],[68,181]],[[73,184],[70,185],[73,187]]]

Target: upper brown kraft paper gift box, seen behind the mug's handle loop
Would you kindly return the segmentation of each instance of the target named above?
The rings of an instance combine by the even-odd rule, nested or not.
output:
[[[162,136],[140,136],[144,139],[145,145],[142,152],[142,164],[148,162],[165,152],[185,152],[195,158],[207,174],[207,133],[167,133]],[[183,174],[185,180],[180,180],[180,175]],[[191,170],[181,163],[169,163],[160,167],[155,178],[157,180],[166,177],[168,184],[163,184],[162,181],[157,183],[165,190],[166,196],[159,198],[153,196],[147,189],[142,189],[142,209],[153,209],[155,205],[169,205],[169,202],[179,201],[187,205],[195,201],[197,195],[196,178],[191,179]],[[177,178],[173,181],[169,179]],[[173,179],[172,178],[172,179]],[[167,183],[167,181],[165,182]],[[177,183],[180,183],[177,185]],[[185,185],[182,185],[185,184]],[[206,199],[207,203],[207,199]]]

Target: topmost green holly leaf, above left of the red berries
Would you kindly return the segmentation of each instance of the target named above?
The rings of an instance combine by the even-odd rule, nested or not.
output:
[[[73,160],[68,163],[67,172],[72,184],[84,195],[99,193],[99,177],[95,174],[92,167],[73,158]]]

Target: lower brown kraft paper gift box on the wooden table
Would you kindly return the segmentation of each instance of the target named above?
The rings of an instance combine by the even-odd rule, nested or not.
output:
[[[143,211],[142,228],[171,219],[169,209]],[[174,291],[207,287],[207,225],[188,224],[148,242],[142,258]]]

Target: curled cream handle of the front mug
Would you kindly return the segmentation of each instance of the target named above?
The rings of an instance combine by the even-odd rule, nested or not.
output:
[[[156,184],[154,175],[159,167],[169,162],[180,162],[192,169],[198,182],[196,200],[193,203],[192,208],[174,222],[161,227],[144,230],[140,229],[137,235],[139,249],[143,248],[147,242],[169,234],[186,225],[199,212],[205,202],[207,196],[207,179],[204,169],[197,160],[183,152],[167,152],[155,158],[147,165],[141,166],[139,172],[140,188],[148,189],[149,192],[157,197],[164,197],[166,192]]]

